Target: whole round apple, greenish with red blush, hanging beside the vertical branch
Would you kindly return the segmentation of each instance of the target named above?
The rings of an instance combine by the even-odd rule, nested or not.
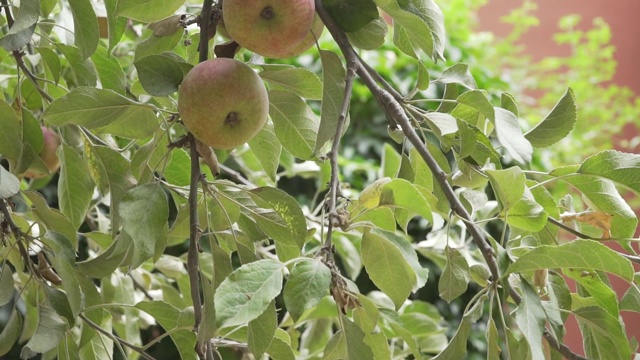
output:
[[[233,149],[267,121],[269,97],[246,64],[215,58],[196,65],[180,86],[178,111],[187,129],[214,149]]]

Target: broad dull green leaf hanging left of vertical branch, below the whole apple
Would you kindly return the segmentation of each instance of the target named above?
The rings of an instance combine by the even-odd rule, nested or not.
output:
[[[169,205],[167,195],[156,183],[129,190],[118,205],[122,231],[116,241],[131,241],[129,269],[147,259],[157,259],[167,241]]]

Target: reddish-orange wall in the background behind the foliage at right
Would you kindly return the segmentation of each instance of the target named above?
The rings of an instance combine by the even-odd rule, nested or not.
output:
[[[640,94],[640,0],[536,0],[538,9],[536,15],[540,25],[532,28],[522,39],[527,53],[534,59],[544,56],[563,56],[569,54],[569,48],[554,43],[553,34],[558,31],[558,21],[568,14],[582,15],[581,29],[591,27],[595,17],[603,18],[611,27],[612,43],[616,46],[615,59],[618,62],[617,73],[613,82],[627,86]],[[506,35],[510,27],[500,22],[500,18],[507,15],[522,1],[489,0],[489,4],[479,12],[481,30],[489,30],[497,36]],[[568,84],[570,85],[570,84]],[[640,119],[635,124],[625,128],[622,137],[631,138],[638,135]],[[614,246],[616,250],[621,250]],[[620,279],[611,279],[613,287],[620,298],[628,285]],[[629,337],[640,339],[640,314],[623,312]],[[574,351],[584,354],[582,338],[575,319],[570,318],[567,323],[565,341]]]

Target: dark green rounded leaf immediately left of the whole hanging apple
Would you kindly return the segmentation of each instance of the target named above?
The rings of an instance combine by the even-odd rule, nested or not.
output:
[[[178,91],[183,72],[180,62],[165,55],[149,55],[136,60],[140,84],[153,96],[168,96]]]

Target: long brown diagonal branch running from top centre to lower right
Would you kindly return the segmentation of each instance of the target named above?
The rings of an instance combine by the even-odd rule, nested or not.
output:
[[[404,112],[400,101],[398,101],[389,91],[381,88],[377,85],[376,80],[372,77],[371,73],[375,73],[375,71],[370,71],[365,67],[365,65],[360,61],[359,57],[355,53],[353,47],[349,43],[346,34],[335,24],[333,19],[329,16],[322,0],[315,0],[316,11],[322,19],[322,22],[325,24],[329,32],[331,33],[333,39],[336,41],[340,50],[344,54],[347,61],[355,61],[359,64],[358,67],[358,76],[362,79],[365,85],[369,88],[369,91],[376,98],[378,104],[385,111],[387,118],[392,122],[391,125],[398,124],[402,131],[404,132],[407,139],[413,144],[416,148],[422,159],[425,161],[431,172],[434,174],[438,185],[444,192],[445,197],[447,198],[449,205],[451,206],[451,210],[454,211],[460,218],[464,220],[465,226],[467,227],[467,231],[470,233],[471,237],[474,240],[476,246],[480,249],[482,256],[484,257],[487,265],[489,266],[489,270],[493,277],[493,281],[499,281],[500,272],[498,270],[498,263],[495,258],[495,254],[493,248],[486,240],[484,233],[478,226],[476,226],[467,210],[464,208],[451,185],[449,185],[447,181],[447,174],[440,168],[438,163],[435,161],[433,156],[429,153],[429,150],[425,146],[424,142],[420,139],[417,132],[411,125],[411,120],[408,118],[407,114]],[[378,79],[381,79],[378,77]],[[516,304],[522,302],[522,297],[520,294],[511,286],[509,286],[508,282],[505,282],[505,286],[509,290],[509,295],[513,298]],[[567,359],[570,360],[583,360],[582,356],[575,354],[571,351],[566,345],[558,343],[555,338],[545,329],[544,337],[547,339],[549,345],[556,350],[558,350],[562,355],[564,355]],[[585,359],[586,360],[586,359]]]

